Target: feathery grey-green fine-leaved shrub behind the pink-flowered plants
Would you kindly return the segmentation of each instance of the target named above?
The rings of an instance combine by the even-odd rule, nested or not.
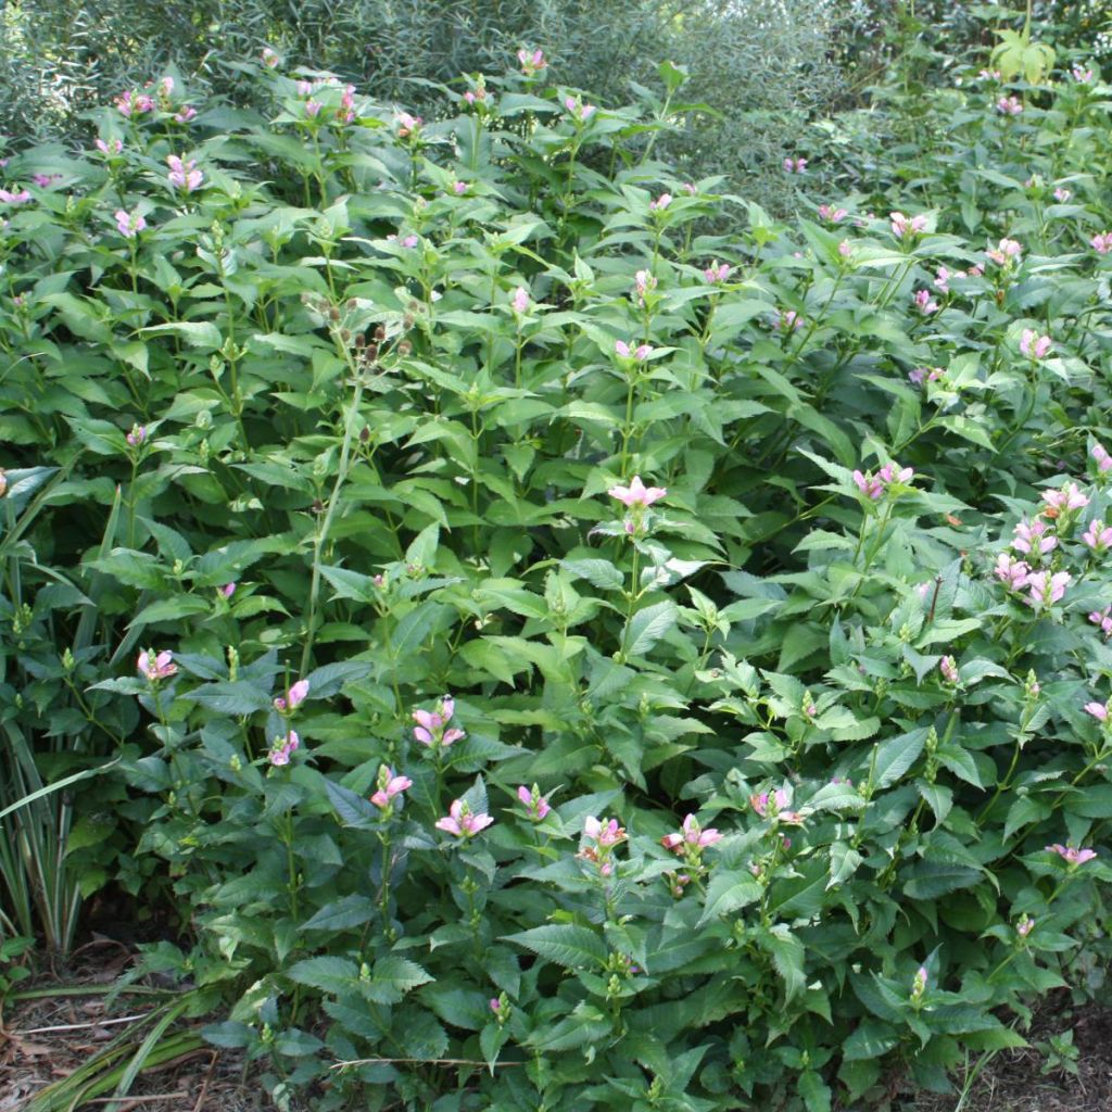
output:
[[[615,105],[655,81],[653,59],[672,58],[706,106],[666,140],[682,172],[729,175],[783,208],[790,137],[838,88],[827,58],[837,16],[831,0],[22,0],[0,22],[0,130],[88,142],[80,110],[156,71],[262,107],[237,61],[261,42],[287,67],[332,71],[426,117],[444,105],[439,86],[458,93],[460,73],[498,72],[523,44],[543,47],[562,81]]]

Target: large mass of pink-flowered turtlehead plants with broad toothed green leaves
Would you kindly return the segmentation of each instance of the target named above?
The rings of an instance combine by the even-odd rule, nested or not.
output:
[[[279,1100],[944,1089],[1109,953],[1105,102],[787,226],[526,61],[12,159],[6,721]]]

